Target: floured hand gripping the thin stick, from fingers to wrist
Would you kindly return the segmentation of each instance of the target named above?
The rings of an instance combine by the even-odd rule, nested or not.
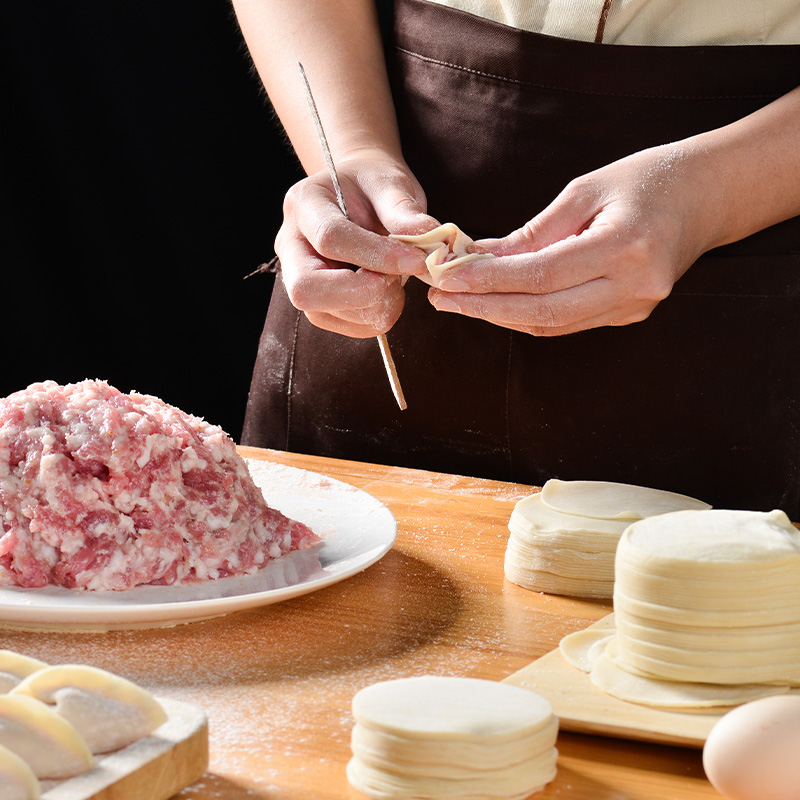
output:
[[[338,160],[348,220],[327,171],[295,184],[275,241],[286,291],[309,321],[357,338],[388,331],[403,309],[403,275],[426,272],[417,248],[387,233],[421,233],[438,223],[408,167],[382,153]]]

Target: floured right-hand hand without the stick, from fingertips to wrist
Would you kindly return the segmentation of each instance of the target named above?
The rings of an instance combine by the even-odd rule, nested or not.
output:
[[[616,161],[505,238],[476,242],[497,257],[449,271],[429,299],[536,336],[641,321],[717,244],[717,181],[686,143]]]

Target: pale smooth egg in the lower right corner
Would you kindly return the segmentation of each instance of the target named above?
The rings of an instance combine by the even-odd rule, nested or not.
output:
[[[800,800],[800,696],[729,711],[706,740],[703,767],[729,800]]]

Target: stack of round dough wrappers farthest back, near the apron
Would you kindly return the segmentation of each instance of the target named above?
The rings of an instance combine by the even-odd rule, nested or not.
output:
[[[707,508],[700,500],[643,486],[549,480],[514,507],[506,578],[538,592],[610,599],[617,544],[631,523]]]

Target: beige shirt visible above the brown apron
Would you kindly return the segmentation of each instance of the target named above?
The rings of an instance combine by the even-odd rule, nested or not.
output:
[[[511,25],[594,41],[603,0],[430,0]],[[798,44],[800,0],[613,0],[606,44]]]

